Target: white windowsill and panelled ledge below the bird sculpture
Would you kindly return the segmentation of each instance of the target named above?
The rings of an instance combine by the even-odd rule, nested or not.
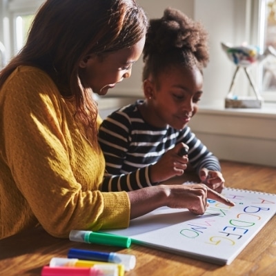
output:
[[[219,159],[276,167],[275,110],[201,107],[189,126]]]

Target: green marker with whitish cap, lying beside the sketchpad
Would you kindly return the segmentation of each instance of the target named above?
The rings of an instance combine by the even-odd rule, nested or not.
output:
[[[121,246],[129,248],[130,237],[97,233],[85,230],[71,230],[69,239],[72,242],[86,242],[87,244],[105,244],[107,246]]]

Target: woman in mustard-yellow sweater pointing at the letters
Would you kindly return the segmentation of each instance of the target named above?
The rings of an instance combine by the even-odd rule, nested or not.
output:
[[[148,21],[134,0],[48,0],[26,46],[0,74],[0,239],[41,224],[124,228],[160,206],[206,210],[205,185],[102,193],[104,158],[92,92],[130,77]]]

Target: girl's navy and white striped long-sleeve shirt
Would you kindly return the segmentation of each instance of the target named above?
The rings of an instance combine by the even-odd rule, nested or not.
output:
[[[150,165],[183,142],[189,147],[188,159],[199,172],[201,168],[220,171],[219,160],[186,126],[155,128],[144,121],[136,103],[124,106],[103,120],[99,143],[106,159],[103,191],[137,190],[155,185],[150,181]]]

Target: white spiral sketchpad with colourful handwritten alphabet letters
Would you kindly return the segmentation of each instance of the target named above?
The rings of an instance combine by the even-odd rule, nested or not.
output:
[[[133,219],[130,227],[109,233],[126,235],[132,242],[179,255],[230,264],[276,213],[276,195],[224,189],[235,202],[228,207],[214,200],[204,215],[186,209],[159,208]]]

